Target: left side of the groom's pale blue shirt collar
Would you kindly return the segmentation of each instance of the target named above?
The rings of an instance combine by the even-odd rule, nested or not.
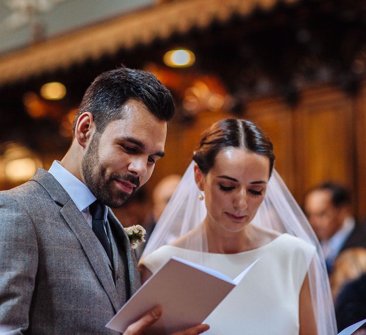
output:
[[[61,184],[80,211],[85,210],[96,200],[96,197],[90,192],[89,188],[71,172],[66,170],[58,161],[53,161],[48,172]]]

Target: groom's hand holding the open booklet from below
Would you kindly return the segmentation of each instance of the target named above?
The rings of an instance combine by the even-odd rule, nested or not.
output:
[[[124,335],[142,335],[144,331],[152,326],[161,316],[162,310],[160,306],[156,306],[145,315],[143,315],[139,320],[130,324]],[[206,330],[208,330],[208,324],[199,324],[197,326],[191,327],[189,329],[181,330],[175,332],[172,335],[198,335]]]

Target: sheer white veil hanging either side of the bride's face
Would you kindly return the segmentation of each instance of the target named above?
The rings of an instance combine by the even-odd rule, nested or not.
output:
[[[194,164],[192,161],[187,168],[159,218],[142,255],[142,261],[159,247],[170,244],[189,232],[188,238],[184,239],[184,245],[179,247],[201,251],[201,264],[210,266],[205,259],[208,245],[204,226],[201,225],[206,216],[206,207],[204,201],[198,199],[200,191],[194,181]],[[288,233],[316,248],[315,255],[308,259],[307,263],[318,335],[335,335],[337,330],[334,306],[320,244],[304,213],[276,170],[272,172],[265,200],[251,225],[280,234]]]

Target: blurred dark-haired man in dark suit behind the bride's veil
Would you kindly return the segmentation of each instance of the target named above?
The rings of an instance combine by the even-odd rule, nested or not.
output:
[[[313,187],[305,196],[304,210],[322,246],[328,273],[342,250],[366,247],[365,225],[356,225],[350,193],[342,185],[325,182]]]

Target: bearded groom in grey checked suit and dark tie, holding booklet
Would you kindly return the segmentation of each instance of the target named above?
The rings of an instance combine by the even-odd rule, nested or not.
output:
[[[119,68],[86,90],[71,146],[49,171],[0,192],[0,326],[6,333],[112,334],[105,324],[140,286],[119,207],[164,156],[170,92],[150,73]],[[132,324],[142,334],[159,307]],[[198,334],[198,325],[179,334]]]

